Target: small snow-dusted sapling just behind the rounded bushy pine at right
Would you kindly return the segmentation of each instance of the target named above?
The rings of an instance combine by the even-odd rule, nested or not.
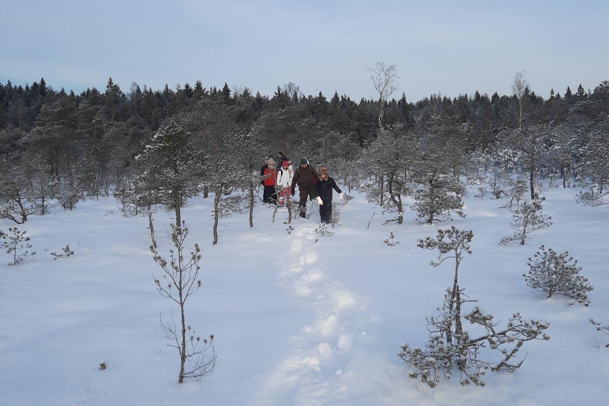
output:
[[[525,245],[528,240],[533,238],[532,234],[535,231],[551,226],[552,217],[541,213],[541,202],[544,200],[546,200],[544,197],[536,198],[513,208],[511,226],[514,234],[503,237],[499,243],[507,245],[510,242],[518,242],[520,245]]]

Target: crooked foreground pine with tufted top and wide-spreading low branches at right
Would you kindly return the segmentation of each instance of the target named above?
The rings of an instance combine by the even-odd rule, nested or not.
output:
[[[526,341],[549,340],[543,331],[549,323],[524,320],[519,313],[513,313],[507,326],[498,328],[492,315],[484,313],[478,306],[470,313],[462,315],[465,303],[476,302],[467,299],[458,284],[459,264],[463,253],[471,254],[470,243],[473,233],[451,229],[438,230],[435,237],[427,237],[418,241],[418,247],[428,250],[438,250],[438,261],[431,265],[437,267],[446,259],[455,259],[455,276],[452,289],[446,289],[444,303],[438,308],[436,317],[427,318],[429,341],[424,349],[418,346],[404,344],[401,346],[400,357],[410,365],[412,379],[419,379],[431,388],[437,387],[441,379],[451,379],[452,369],[460,371],[462,385],[484,386],[482,376],[487,370],[492,372],[514,372],[520,368],[524,360],[513,363],[512,358]],[[463,329],[463,324],[469,322],[482,327],[484,333],[477,338],[471,338],[470,332]],[[474,336],[475,337],[475,336]],[[487,347],[499,352],[500,358],[495,362],[479,359],[481,348]]]

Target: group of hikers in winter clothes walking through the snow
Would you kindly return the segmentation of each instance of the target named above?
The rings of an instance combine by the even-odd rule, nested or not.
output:
[[[275,205],[287,205],[290,196],[294,196],[295,186],[298,185],[298,209],[300,217],[306,217],[307,200],[317,199],[319,215],[322,223],[329,224],[332,216],[332,189],[343,200],[344,195],[334,179],[329,177],[328,169],[320,167],[315,170],[306,158],[300,159],[300,164],[294,170],[292,163],[283,152],[278,152],[276,158],[264,160],[260,169],[261,181],[264,186],[262,201]]]

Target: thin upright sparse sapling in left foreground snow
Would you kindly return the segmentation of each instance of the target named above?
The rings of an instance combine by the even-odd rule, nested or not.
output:
[[[164,298],[171,299],[180,306],[181,326],[172,321],[160,321],[161,328],[165,332],[167,339],[175,344],[167,344],[177,348],[180,352],[180,374],[178,382],[184,382],[185,378],[201,379],[213,373],[216,367],[216,354],[214,351],[214,335],[209,335],[209,340],[197,337],[191,326],[185,321],[186,300],[197,293],[201,287],[199,276],[199,261],[201,260],[201,250],[195,243],[194,249],[186,254],[184,243],[188,237],[188,228],[185,222],[181,226],[171,225],[171,245],[169,250],[170,261],[161,257],[157,249],[157,240],[154,235],[152,223],[152,213],[148,214],[150,229],[150,252],[155,262],[163,269],[163,279],[154,278],[157,290]],[[188,369],[186,368],[188,366]]]

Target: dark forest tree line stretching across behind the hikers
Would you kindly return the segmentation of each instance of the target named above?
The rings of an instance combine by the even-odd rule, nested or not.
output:
[[[513,94],[412,102],[404,93],[389,99],[393,68],[370,68],[379,99],[359,102],[305,96],[294,83],[272,96],[200,80],[162,90],[134,82],[125,93],[110,78],[103,92],[80,94],[44,79],[0,83],[0,216],[23,223],[52,201],[71,209],[113,194],[125,212],[164,205],[179,225],[180,206],[211,191],[217,223],[251,213],[262,159],[277,151],[329,167],[399,223],[409,207],[421,223],[462,215],[468,182],[488,184],[495,198],[526,187],[535,200],[536,183],[551,178],[583,186],[583,203],[606,204],[609,82],[545,99],[516,72]],[[417,203],[406,207],[407,196]]]

